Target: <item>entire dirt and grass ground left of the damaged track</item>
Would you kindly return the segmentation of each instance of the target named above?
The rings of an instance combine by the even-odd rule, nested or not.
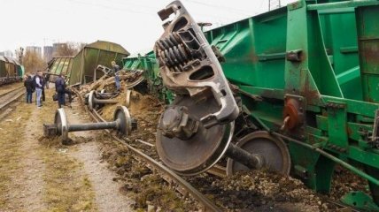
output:
[[[116,175],[101,158],[94,133],[70,133],[75,145],[42,139],[52,123],[52,90],[42,109],[19,104],[0,121],[0,211],[131,211]],[[23,99],[22,99],[23,100]],[[65,107],[70,122],[88,121]]]

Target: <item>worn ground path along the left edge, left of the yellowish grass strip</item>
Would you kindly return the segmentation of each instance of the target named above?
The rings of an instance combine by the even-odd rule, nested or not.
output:
[[[5,185],[1,189],[1,194],[4,195],[1,199],[7,203],[3,205],[6,206],[5,211],[41,211],[46,208],[42,194],[45,167],[36,151],[39,144],[35,135],[38,130],[31,118],[38,111],[33,110],[35,105],[22,104],[19,107],[22,110],[18,108],[12,112],[0,130],[5,135],[1,136],[5,141],[1,143],[1,151],[10,154],[9,160],[2,161],[0,167],[11,170],[8,175],[3,175],[8,180],[4,181]]]

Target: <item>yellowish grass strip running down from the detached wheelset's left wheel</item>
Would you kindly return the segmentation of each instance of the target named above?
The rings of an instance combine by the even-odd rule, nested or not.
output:
[[[38,120],[41,135],[43,123],[53,123],[55,110],[58,108],[57,102],[50,98],[52,94],[52,89],[46,92],[46,102],[41,109],[43,116]],[[66,154],[75,148],[63,146],[58,138],[40,137],[39,140],[39,152],[46,166],[43,174],[43,199],[47,203],[47,211],[97,211],[95,193],[88,176],[81,171],[83,165]]]

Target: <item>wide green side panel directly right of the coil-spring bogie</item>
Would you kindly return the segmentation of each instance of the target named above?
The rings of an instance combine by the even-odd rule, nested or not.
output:
[[[287,10],[281,8],[205,32],[226,58],[221,64],[237,85],[284,88]]]

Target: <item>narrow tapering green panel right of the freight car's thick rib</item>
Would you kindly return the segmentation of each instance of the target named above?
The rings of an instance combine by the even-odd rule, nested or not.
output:
[[[362,100],[355,12],[344,9],[319,14],[325,48],[344,97]]]

